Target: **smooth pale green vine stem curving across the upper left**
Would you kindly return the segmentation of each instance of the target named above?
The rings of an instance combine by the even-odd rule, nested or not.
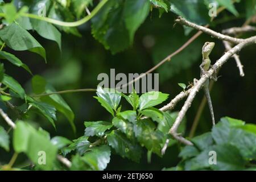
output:
[[[98,5],[93,9],[93,11],[89,15],[85,16],[84,18],[82,18],[80,20],[77,20],[76,22],[63,22],[60,20],[47,18],[47,17],[35,15],[35,14],[30,14],[30,13],[22,13],[22,14],[20,14],[20,16],[43,20],[45,22],[56,24],[56,25],[63,26],[63,27],[77,27],[77,26],[80,26],[81,24],[88,22],[88,20],[92,19],[93,16],[96,15],[98,13],[98,11],[100,11],[100,9],[105,5],[106,2],[108,2],[108,0],[102,0],[100,3],[98,3]],[[0,13],[0,16],[5,17],[6,14]]]

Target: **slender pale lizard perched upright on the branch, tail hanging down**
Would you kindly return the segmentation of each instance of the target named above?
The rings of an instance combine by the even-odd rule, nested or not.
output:
[[[209,55],[212,52],[212,49],[213,49],[214,46],[215,46],[214,42],[205,42],[204,43],[204,46],[202,48],[203,61],[200,64],[200,71],[201,71],[200,72],[200,77],[202,77],[205,74],[205,72],[207,72],[212,67],[212,65],[210,65],[211,61],[210,61]],[[214,71],[216,73],[215,69],[214,69]],[[213,80],[213,81],[217,81],[216,76],[211,76],[210,79]],[[194,80],[194,83],[196,81],[197,80]],[[204,83],[203,89],[204,89],[205,97],[207,98],[207,102],[208,102],[208,106],[209,106],[209,110],[210,110],[210,115],[212,117],[212,124],[214,126],[215,125],[215,119],[214,119],[214,113],[213,113],[213,107],[212,107],[212,100],[210,98],[210,92],[209,92],[209,79]]]

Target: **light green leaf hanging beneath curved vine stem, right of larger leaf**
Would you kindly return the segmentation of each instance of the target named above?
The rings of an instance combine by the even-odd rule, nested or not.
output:
[[[61,34],[51,23],[42,20],[31,19],[32,27],[43,38],[55,41],[61,51]]]

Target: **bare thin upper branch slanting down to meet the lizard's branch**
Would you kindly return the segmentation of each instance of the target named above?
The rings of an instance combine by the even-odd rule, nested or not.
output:
[[[232,43],[236,43],[236,44],[243,42],[243,39],[237,39],[237,38],[233,38],[233,37],[228,36],[228,35],[220,34],[216,31],[210,30],[207,27],[203,27],[203,26],[197,25],[195,23],[189,22],[188,20],[182,18],[181,16],[179,16],[175,20],[175,22],[180,23],[180,24],[184,24],[185,26],[188,26],[188,27],[195,28],[196,30],[203,31],[205,34],[209,34],[211,36],[214,36],[217,39],[226,40],[228,42],[232,42]]]

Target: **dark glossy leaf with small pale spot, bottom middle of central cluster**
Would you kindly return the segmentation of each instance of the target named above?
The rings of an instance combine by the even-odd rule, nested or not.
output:
[[[127,139],[120,131],[113,130],[107,135],[107,139],[109,145],[114,148],[115,152],[121,155],[122,158],[128,158],[134,162],[139,162],[141,159],[141,146],[135,143],[135,141]]]

